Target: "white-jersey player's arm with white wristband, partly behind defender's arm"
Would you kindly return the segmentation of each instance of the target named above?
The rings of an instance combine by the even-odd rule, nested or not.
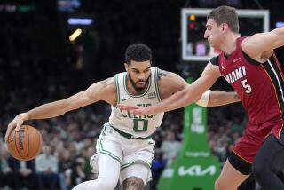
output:
[[[190,85],[179,75],[160,69],[158,70],[158,83],[161,99],[166,99],[177,91],[184,90],[187,85]],[[218,107],[239,101],[241,99],[236,92],[210,90],[205,91],[201,97],[195,100],[201,107]]]

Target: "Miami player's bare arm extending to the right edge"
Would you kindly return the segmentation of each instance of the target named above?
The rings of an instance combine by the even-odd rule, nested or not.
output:
[[[272,55],[273,49],[284,45],[284,27],[270,32],[258,33],[242,42],[242,50],[252,59],[264,62]]]

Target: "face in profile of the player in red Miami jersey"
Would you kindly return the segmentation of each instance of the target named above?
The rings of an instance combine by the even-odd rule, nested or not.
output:
[[[204,38],[208,40],[209,44],[211,44],[214,48],[220,48],[222,39],[224,39],[224,34],[224,24],[217,26],[215,20],[207,20]]]

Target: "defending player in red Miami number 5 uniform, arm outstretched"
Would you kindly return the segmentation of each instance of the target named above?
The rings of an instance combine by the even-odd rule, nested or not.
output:
[[[204,37],[221,53],[211,59],[201,77],[185,90],[146,108],[149,115],[185,107],[224,76],[248,112],[248,127],[225,162],[215,183],[217,190],[235,190],[254,173],[265,190],[284,189],[276,172],[284,168],[284,76],[273,49],[284,45],[284,28],[249,37],[239,36],[235,9],[220,6],[209,13]]]

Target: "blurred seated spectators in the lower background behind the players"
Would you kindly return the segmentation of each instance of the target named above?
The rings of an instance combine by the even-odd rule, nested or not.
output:
[[[12,105],[15,104],[12,102]],[[29,162],[20,162],[7,152],[2,130],[0,187],[65,190],[85,180],[96,178],[90,171],[89,159],[96,152],[96,139],[110,113],[108,106],[102,104],[99,107],[99,111],[97,107],[85,107],[58,118],[28,122],[43,135],[42,153]],[[215,113],[212,116],[222,115],[218,108],[210,109]],[[12,115],[7,116],[1,126],[5,127],[11,118]],[[225,162],[231,146],[240,139],[243,124],[238,121],[227,121],[222,116],[220,118],[223,121],[209,123],[208,137],[212,154],[222,163]],[[162,127],[154,133],[154,180],[150,184],[150,189],[155,189],[162,170],[177,158],[183,141],[182,121],[182,110],[167,113]]]

